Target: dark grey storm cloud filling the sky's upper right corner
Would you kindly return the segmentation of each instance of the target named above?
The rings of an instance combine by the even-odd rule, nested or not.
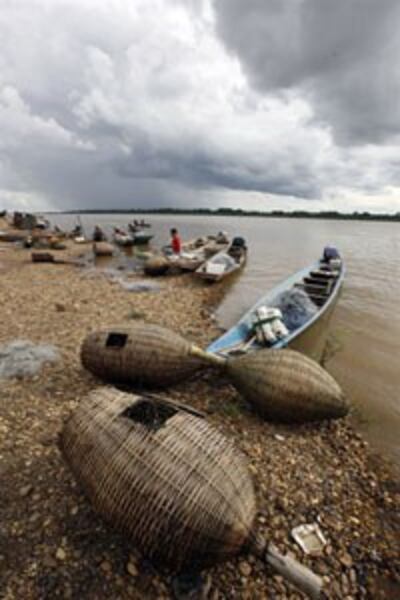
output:
[[[257,89],[309,98],[340,143],[400,133],[398,0],[216,0],[215,10]]]

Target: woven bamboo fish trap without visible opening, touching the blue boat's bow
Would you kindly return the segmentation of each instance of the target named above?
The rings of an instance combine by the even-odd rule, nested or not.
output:
[[[267,419],[299,423],[343,417],[348,403],[333,377],[294,350],[260,350],[228,359],[223,368]]]

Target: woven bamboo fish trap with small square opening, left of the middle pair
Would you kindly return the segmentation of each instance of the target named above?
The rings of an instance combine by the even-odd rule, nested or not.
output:
[[[89,334],[81,347],[83,366],[105,381],[160,387],[204,368],[180,335],[145,323]]]

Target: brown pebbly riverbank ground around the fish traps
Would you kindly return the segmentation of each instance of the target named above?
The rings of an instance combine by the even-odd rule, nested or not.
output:
[[[57,256],[81,252],[69,245]],[[218,334],[211,317],[218,287],[190,275],[157,282],[159,291],[131,293],[76,266],[33,264],[29,251],[2,245],[0,343],[53,344],[61,360],[29,379],[1,382],[1,596],[170,598],[170,575],[154,571],[92,512],[57,448],[63,419],[100,384],[79,361],[89,331],[142,319],[202,346]],[[212,373],[166,395],[207,411],[235,439],[254,476],[259,531],[321,574],[329,598],[400,595],[398,486],[371,461],[347,419],[301,427],[261,422]],[[317,520],[328,544],[311,559],[290,531]],[[210,575],[213,600],[301,597],[253,556],[216,566]]]

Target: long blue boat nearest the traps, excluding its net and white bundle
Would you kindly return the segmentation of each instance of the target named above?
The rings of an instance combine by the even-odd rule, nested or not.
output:
[[[270,347],[289,347],[321,361],[328,336],[329,320],[338,300],[344,275],[345,267],[341,261],[331,261],[331,264],[318,261],[298,271],[258,300],[234,327],[210,344],[207,350],[227,356],[263,347],[253,334],[255,311],[264,306],[276,307],[283,293],[300,290],[312,302],[313,314],[299,327],[288,327],[288,335],[278,339]],[[285,315],[283,321],[285,322]]]

